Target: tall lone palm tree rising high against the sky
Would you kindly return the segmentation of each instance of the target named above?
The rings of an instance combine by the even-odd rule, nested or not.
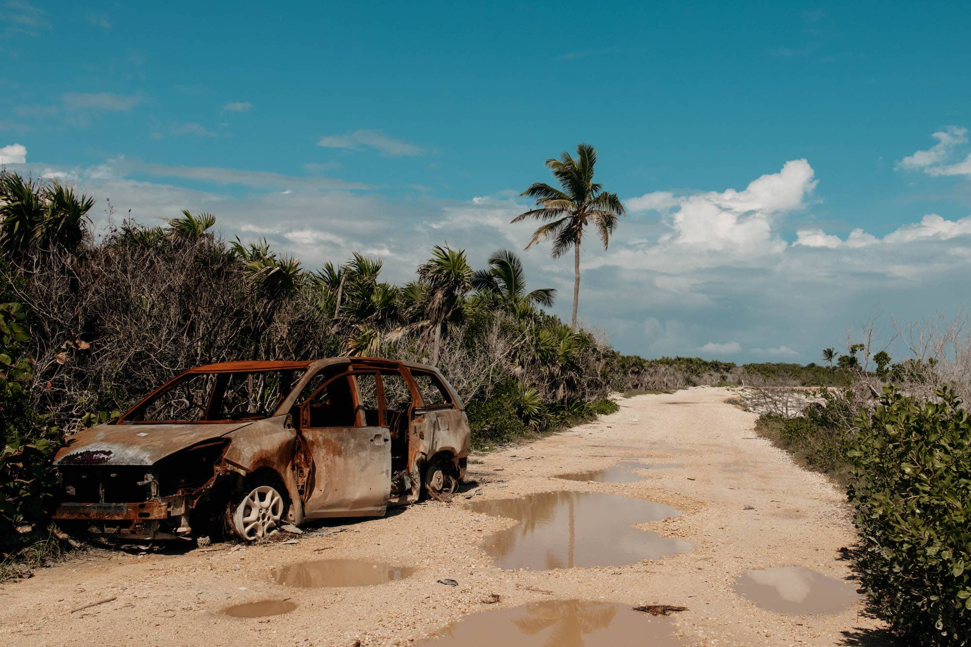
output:
[[[604,244],[610,243],[610,235],[617,227],[618,217],[625,215],[617,193],[608,193],[603,186],[593,182],[593,166],[597,152],[589,144],[577,147],[577,157],[568,151],[559,159],[548,159],[546,165],[552,171],[560,188],[542,182],[534,183],[522,191],[522,195],[536,198],[536,208],[519,214],[513,222],[527,218],[544,221],[533,232],[526,245],[528,250],[540,240],[552,238],[552,257],[558,258],[573,248],[573,329],[577,329],[577,304],[580,300],[580,247],[584,229],[592,223]]]

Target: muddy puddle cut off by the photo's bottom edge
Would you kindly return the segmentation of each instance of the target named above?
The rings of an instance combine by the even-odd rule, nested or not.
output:
[[[629,605],[549,600],[467,616],[419,645],[463,647],[617,647],[683,645],[669,618]]]

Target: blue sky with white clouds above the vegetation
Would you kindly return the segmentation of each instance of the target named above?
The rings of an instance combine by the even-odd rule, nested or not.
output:
[[[521,249],[519,191],[583,141],[628,216],[581,313],[621,351],[805,362],[953,315],[971,9],[738,4],[0,0],[0,160],[406,280],[436,243]],[[570,259],[522,255],[568,314]]]

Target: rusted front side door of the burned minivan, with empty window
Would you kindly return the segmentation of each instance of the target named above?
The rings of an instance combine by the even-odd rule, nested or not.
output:
[[[311,462],[304,514],[385,514],[391,489],[391,436],[377,371],[350,371],[321,386],[300,407],[303,451]]]

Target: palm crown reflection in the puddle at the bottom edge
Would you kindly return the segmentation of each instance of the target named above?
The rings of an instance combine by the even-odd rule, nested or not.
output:
[[[617,605],[582,600],[552,600],[526,605],[525,618],[513,619],[523,633],[533,635],[553,628],[547,647],[583,647],[584,636],[610,627]]]

